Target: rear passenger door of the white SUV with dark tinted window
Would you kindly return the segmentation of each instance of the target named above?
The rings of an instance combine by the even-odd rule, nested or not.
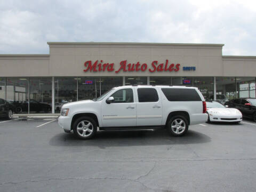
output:
[[[155,88],[137,89],[136,126],[162,125],[162,100]]]

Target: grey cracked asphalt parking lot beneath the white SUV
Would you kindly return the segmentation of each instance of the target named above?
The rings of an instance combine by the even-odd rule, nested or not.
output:
[[[256,123],[64,133],[56,118],[0,119],[0,191],[256,191]]]

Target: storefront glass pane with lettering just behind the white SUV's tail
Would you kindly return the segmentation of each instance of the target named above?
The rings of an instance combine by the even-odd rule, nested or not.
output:
[[[193,86],[198,87],[204,99],[213,100],[213,77],[194,77]]]

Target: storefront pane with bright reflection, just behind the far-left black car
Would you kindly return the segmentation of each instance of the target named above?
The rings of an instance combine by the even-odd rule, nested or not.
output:
[[[14,105],[14,113],[28,113],[28,77],[7,77],[6,100]]]

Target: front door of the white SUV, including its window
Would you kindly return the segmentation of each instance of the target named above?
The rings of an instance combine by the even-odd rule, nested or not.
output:
[[[101,104],[103,127],[122,127],[136,125],[136,103],[133,89],[117,90],[110,97],[114,101],[108,104],[107,98]]]

